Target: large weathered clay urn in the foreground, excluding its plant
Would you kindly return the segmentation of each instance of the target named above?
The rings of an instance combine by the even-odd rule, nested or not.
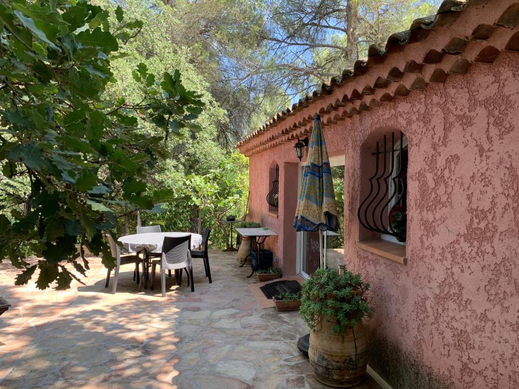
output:
[[[366,332],[362,321],[344,335],[334,335],[322,319],[310,332],[308,357],[316,379],[335,387],[350,387],[361,382],[367,366]]]

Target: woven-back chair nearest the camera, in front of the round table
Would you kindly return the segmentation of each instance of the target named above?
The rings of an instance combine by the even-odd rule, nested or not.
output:
[[[165,237],[162,243],[162,255],[160,259],[152,261],[152,284],[155,283],[155,270],[160,266],[160,284],[162,286],[162,297],[166,297],[166,269],[179,270],[178,284],[182,284],[182,270],[187,273],[187,285],[191,284],[191,291],[195,291],[193,282],[193,266],[191,261],[191,234],[185,237]],[[190,282],[189,282],[190,281]]]

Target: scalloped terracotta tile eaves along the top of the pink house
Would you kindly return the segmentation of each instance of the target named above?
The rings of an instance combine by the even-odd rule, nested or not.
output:
[[[435,27],[452,26],[459,17],[460,11],[468,7],[484,6],[488,1],[445,0],[435,15],[416,19],[407,31],[392,34],[387,39],[384,49],[375,45],[370,46],[367,58],[357,60],[352,69],[345,69],[341,75],[331,78],[329,83],[323,83],[320,90],[307,93],[304,98],[292,104],[291,108],[276,114],[259,131],[255,131],[243,138],[236,147],[240,148],[242,152],[250,153],[252,149],[254,149],[254,152],[260,152],[269,147],[269,144],[271,145],[269,142],[272,142],[272,140],[275,140],[275,144],[279,145],[308,133],[311,130],[311,121],[315,113],[309,112],[303,120],[299,120],[297,123],[287,123],[284,129],[279,127],[283,126],[282,123],[287,117],[297,114],[297,112],[310,105],[316,104],[325,95],[334,93],[336,88],[356,81],[359,77],[370,72],[372,68],[376,70],[381,60],[386,59],[382,57],[398,52],[403,46],[427,38]],[[496,35],[496,29],[502,29],[503,27],[504,29],[511,29],[518,23],[519,3],[515,3],[508,6],[495,22],[490,24],[487,21],[475,26],[471,30],[472,34],[470,35],[454,36],[446,41],[442,48],[430,48],[424,51],[423,58],[408,59],[405,65],[402,62],[395,63],[395,66],[391,68],[387,75],[374,74],[366,76],[368,77],[366,78],[366,84],[360,87],[361,90],[357,89],[359,88],[358,84],[356,88],[349,92],[345,89],[346,93],[342,98],[339,95],[334,104],[320,108],[321,112],[329,114],[325,118],[325,123],[334,123],[354,114],[359,114],[364,110],[369,110],[370,107],[390,102],[395,96],[407,95],[411,90],[423,90],[428,82],[445,82],[448,74],[465,74],[472,62],[493,62],[502,49],[519,51],[519,32],[514,33],[509,30],[508,34],[510,36],[506,36],[506,46],[502,45],[504,47],[497,47],[497,44],[496,46],[491,44],[491,39]],[[479,44],[481,46],[478,46]],[[396,57],[393,55],[391,58],[395,62],[400,59],[398,55]],[[388,68],[387,65],[384,67]],[[412,74],[416,76],[410,77]],[[371,81],[368,82],[368,79]],[[262,146],[259,147],[257,143],[256,145],[249,144],[245,146],[245,144],[251,143],[255,137],[270,131],[270,127],[273,124],[276,124],[276,128],[279,128],[279,136],[278,134],[271,134],[269,137],[263,138],[260,142]],[[299,133],[296,134],[296,130]]]

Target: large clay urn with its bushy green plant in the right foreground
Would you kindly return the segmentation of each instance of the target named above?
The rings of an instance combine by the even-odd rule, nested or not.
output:
[[[366,371],[366,332],[362,319],[374,308],[360,274],[318,269],[303,284],[299,314],[310,327],[310,365],[320,382],[357,385]]]

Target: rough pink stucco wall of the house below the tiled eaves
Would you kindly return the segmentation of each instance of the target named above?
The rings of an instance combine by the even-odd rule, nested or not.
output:
[[[356,247],[360,150],[381,129],[409,140],[406,265]],[[519,55],[501,52],[324,134],[331,155],[346,155],[345,262],[372,285],[372,367],[395,389],[519,387]],[[286,275],[296,251],[292,146],[250,157],[248,220],[279,233],[267,246]],[[277,218],[265,200],[272,162]]]

